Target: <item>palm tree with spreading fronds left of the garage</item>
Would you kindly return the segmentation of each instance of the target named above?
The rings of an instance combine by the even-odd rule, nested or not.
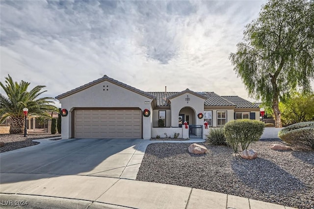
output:
[[[38,98],[46,86],[38,85],[27,91],[29,82],[21,80],[20,83],[14,82],[13,79],[8,75],[5,78],[5,85],[0,82],[0,86],[6,93],[0,94],[0,123],[2,123],[7,117],[10,117],[10,133],[23,133],[25,120],[23,108],[28,108],[28,116],[31,115],[50,115],[47,111],[56,111],[58,108],[53,104],[52,97]]]

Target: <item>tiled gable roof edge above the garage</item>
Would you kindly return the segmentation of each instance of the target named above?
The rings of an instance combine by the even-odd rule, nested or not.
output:
[[[137,88],[134,88],[134,87],[132,87],[132,86],[130,86],[130,85],[128,85],[128,84],[125,84],[125,83],[120,82],[120,81],[118,81],[118,80],[115,80],[115,79],[113,79],[113,78],[109,78],[109,77],[107,77],[107,76],[105,75],[103,78],[99,78],[99,79],[94,80],[94,81],[92,81],[92,82],[89,82],[89,83],[87,83],[87,84],[85,84],[85,85],[79,86],[78,88],[75,88],[75,89],[73,89],[73,90],[71,90],[71,91],[68,91],[68,92],[65,92],[65,93],[63,93],[63,94],[60,94],[60,95],[56,96],[55,99],[62,99],[62,98],[68,97],[68,96],[70,96],[70,95],[72,95],[72,94],[75,94],[75,93],[77,93],[77,92],[79,92],[79,91],[82,91],[82,90],[84,90],[84,89],[86,89],[86,88],[89,88],[89,87],[91,87],[91,86],[93,86],[93,85],[96,85],[96,84],[98,84],[98,83],[100,83],[100,82],[103,82],[103,81],[105,81],[105,80],[108,80],[108,81],[110,81],[110,82],[112,82],[112,83],[115,83],[115,84],[121,86],[121,87],[124,87],[124,88],[129,89],[129,90],[131,90],[131,91],[133,91],[133,92],[136,92],[136,93],[138,93],[138,94],[141,94],[141,95],[143,95],[143,96],[145,96],[145,97],[148,97],[148,98],[151,98],[151,99],[155,99],[155,98],[156,98],[155,96],[153,96],[153,95],[151,95],[151,94],[148,94],[147,92],[144,92],[144,91],[142,91],[142,90],[139,90],[139,89],[137,89]]]

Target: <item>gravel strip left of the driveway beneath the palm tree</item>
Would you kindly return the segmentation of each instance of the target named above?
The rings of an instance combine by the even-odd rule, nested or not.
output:
[[[37,134],[27,134],[27,137],[24,137],[24,134],[0,134],[0,142],[4,142],[4,146],[0,147],[0,153],[39,144],[39,142],[32,141],[34,139],[43,139],[43,138],[52,138],[52,137],[61,138],[61,134],[37,133]]]

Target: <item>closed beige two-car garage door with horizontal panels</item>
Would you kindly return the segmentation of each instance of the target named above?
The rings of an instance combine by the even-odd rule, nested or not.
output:
[[[142,138],[140,109],[76,109],[75,138]]]

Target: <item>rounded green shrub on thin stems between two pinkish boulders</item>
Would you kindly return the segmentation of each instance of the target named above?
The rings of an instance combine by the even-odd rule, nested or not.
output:
[[[233,148],[235,153],[237,153],[239,145],[243,151],[246,150],[252,142],[258,141],[264,131],[264,127],[265,124],[257,120],[233,120],[226,123],[224,134],[227,143]]]

